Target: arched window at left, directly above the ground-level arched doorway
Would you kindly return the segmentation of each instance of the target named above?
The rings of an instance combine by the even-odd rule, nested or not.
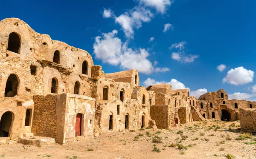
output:
[[[17,95],[19,81],[15,74],[10,74],[6,81],[6,88],[4,92],[4,97],[14,97]]]

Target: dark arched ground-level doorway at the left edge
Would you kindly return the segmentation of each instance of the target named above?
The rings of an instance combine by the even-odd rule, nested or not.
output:
[[[12,112],[5,112],[0,121],[0,137],[8,137],[12,125]]]

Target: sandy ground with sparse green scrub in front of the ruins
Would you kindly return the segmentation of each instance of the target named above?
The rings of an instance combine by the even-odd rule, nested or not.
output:
[[[256,132],[250,132],[253,133],[251,139],[235,140],[244,131],[239,131],[239,127],[230,127],[233,123],[240,124],[208,120],[173,127],[170,130],[145,129],[102,134],[93,139],[67,142],[64,145],[52,144],[43,148],[19,143],[2,144],[0,159],[218,159],[227,158],[228,153],[236,159],[256,159]],[[212,129],[209,130],[210,127]],[[150,135],[146,132],[150,132]],[[143,136],[134,139],[139,133],[143,133]],[[231,140],[226,140],[227,134]],[[152,142],[157,136],[162,143]],[[168,147],[171,143],[187,146],[187,150],[177,146]],[[154,144],[160,152],[153,151]],[[221,148],[224,150],[220,150]]]

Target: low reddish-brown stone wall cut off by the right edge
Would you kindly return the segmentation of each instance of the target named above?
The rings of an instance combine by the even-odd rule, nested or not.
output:
[[[256,109],[240,109],[241,129],[256,131]]]

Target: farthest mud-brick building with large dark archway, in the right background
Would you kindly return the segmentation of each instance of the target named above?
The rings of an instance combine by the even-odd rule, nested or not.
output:
[[[246,100],[228,99],[224,89],[217,92],[208,92],[198,98],[198,111],[205,119],[236,121],[240,119],[239,110],[256,108],[253,102]]]

